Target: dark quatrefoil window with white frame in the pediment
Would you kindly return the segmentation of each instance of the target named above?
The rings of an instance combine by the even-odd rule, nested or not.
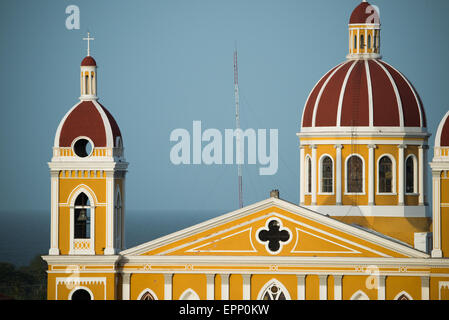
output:
[[[267,220],[265,228],[257,230],[257,240],[265,245],[271,254],[277,254],[282,246],[290,242],[292,238],[288,228],[282,227],[280,220],[271,218]]]

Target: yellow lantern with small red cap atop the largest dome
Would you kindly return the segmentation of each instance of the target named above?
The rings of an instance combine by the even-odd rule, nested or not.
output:
[[[349,19],[348,59],[380,59],[380,19],[376,6],[361,2]]]

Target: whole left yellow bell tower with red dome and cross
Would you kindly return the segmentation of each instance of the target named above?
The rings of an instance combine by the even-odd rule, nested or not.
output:
[[[98,102],[97,64],[81,62],[80,101],[56,131],[51,174],[49,255],[115,255],[124,248],[125,175],[120,129]]]

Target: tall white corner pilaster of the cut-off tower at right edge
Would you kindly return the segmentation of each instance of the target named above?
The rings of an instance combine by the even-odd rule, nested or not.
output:
[[[432,258],[443,257],[443,252],[441,251],[441,227],[440,227],[440,217],[441,217],[441,203],[440,203],[440,176],[441,171],[432,171],[432,236],[433,236],[433,249]]]

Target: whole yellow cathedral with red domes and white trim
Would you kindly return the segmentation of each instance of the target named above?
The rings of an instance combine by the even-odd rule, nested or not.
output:
[[[348,26],[346,60],[312,88],[300,119],[299,204],[273,190],[128,249],[128,162],[98,102],[88,35],[80,101],[49,162],[48,299],[449,300],[449,111],[428,159],[423,103],[382,60],[375,7],[361,2]]]

